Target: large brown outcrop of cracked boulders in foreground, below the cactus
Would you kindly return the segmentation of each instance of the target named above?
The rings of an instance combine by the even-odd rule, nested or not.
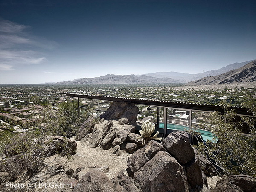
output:
[[[127,160],[129,177],[144,192],[193,191],[202,189],[206,177],[199,155],[185,131],[171,133],[158,143],[149,141]]]

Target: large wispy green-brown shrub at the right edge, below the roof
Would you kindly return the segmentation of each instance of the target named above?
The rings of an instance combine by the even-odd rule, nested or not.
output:
[[[214,125],[212,133],[216,136],[214,141],[199,143],[197,148],[212,160],[221,173],[256,176],[255,118],[242,117],[241,122],[234,123],[235,113],[229,109],[230,104],[222,102],[221,105],[224,113],[215,111],[210,115]],[[250,128],[250,133],[246,136],[239,128],[243,123],[247,123]]]

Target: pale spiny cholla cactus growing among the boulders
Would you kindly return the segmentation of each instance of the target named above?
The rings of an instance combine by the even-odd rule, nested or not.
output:
[[[141,134],[140,137],[138,137],[138,139],[142,138],[142,144],[145,145],[149,140],[162,140],[161,137],[157,137],[157,135],[159,134],[159,132],[157,131],[156,134],[154,134],[154,136],[151,137],[151,134],[154,133],[155,130],[155,125],[152,122],[145,122],[143,121],[142,125],[141,125],[141,129],[139,132]]]

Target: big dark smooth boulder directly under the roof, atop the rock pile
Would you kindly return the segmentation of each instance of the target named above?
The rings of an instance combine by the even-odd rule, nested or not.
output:
[[[128,102],[113,102],[105,113],[100,115],[100,118],[105,120],[119,120],[126,118],[129,124],[136,123],[139,109],[134,103]]]

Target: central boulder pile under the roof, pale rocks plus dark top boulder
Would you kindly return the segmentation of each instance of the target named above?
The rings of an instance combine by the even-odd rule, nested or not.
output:
[[[88,143],[91,147],[112,148],[113,153],[120,155],[120,150],[133,153],[143,147],[140,135],[135,134],[138,108],[134,103],[113,102],[95,124],[89,117],[81,125],[76,140]]]

